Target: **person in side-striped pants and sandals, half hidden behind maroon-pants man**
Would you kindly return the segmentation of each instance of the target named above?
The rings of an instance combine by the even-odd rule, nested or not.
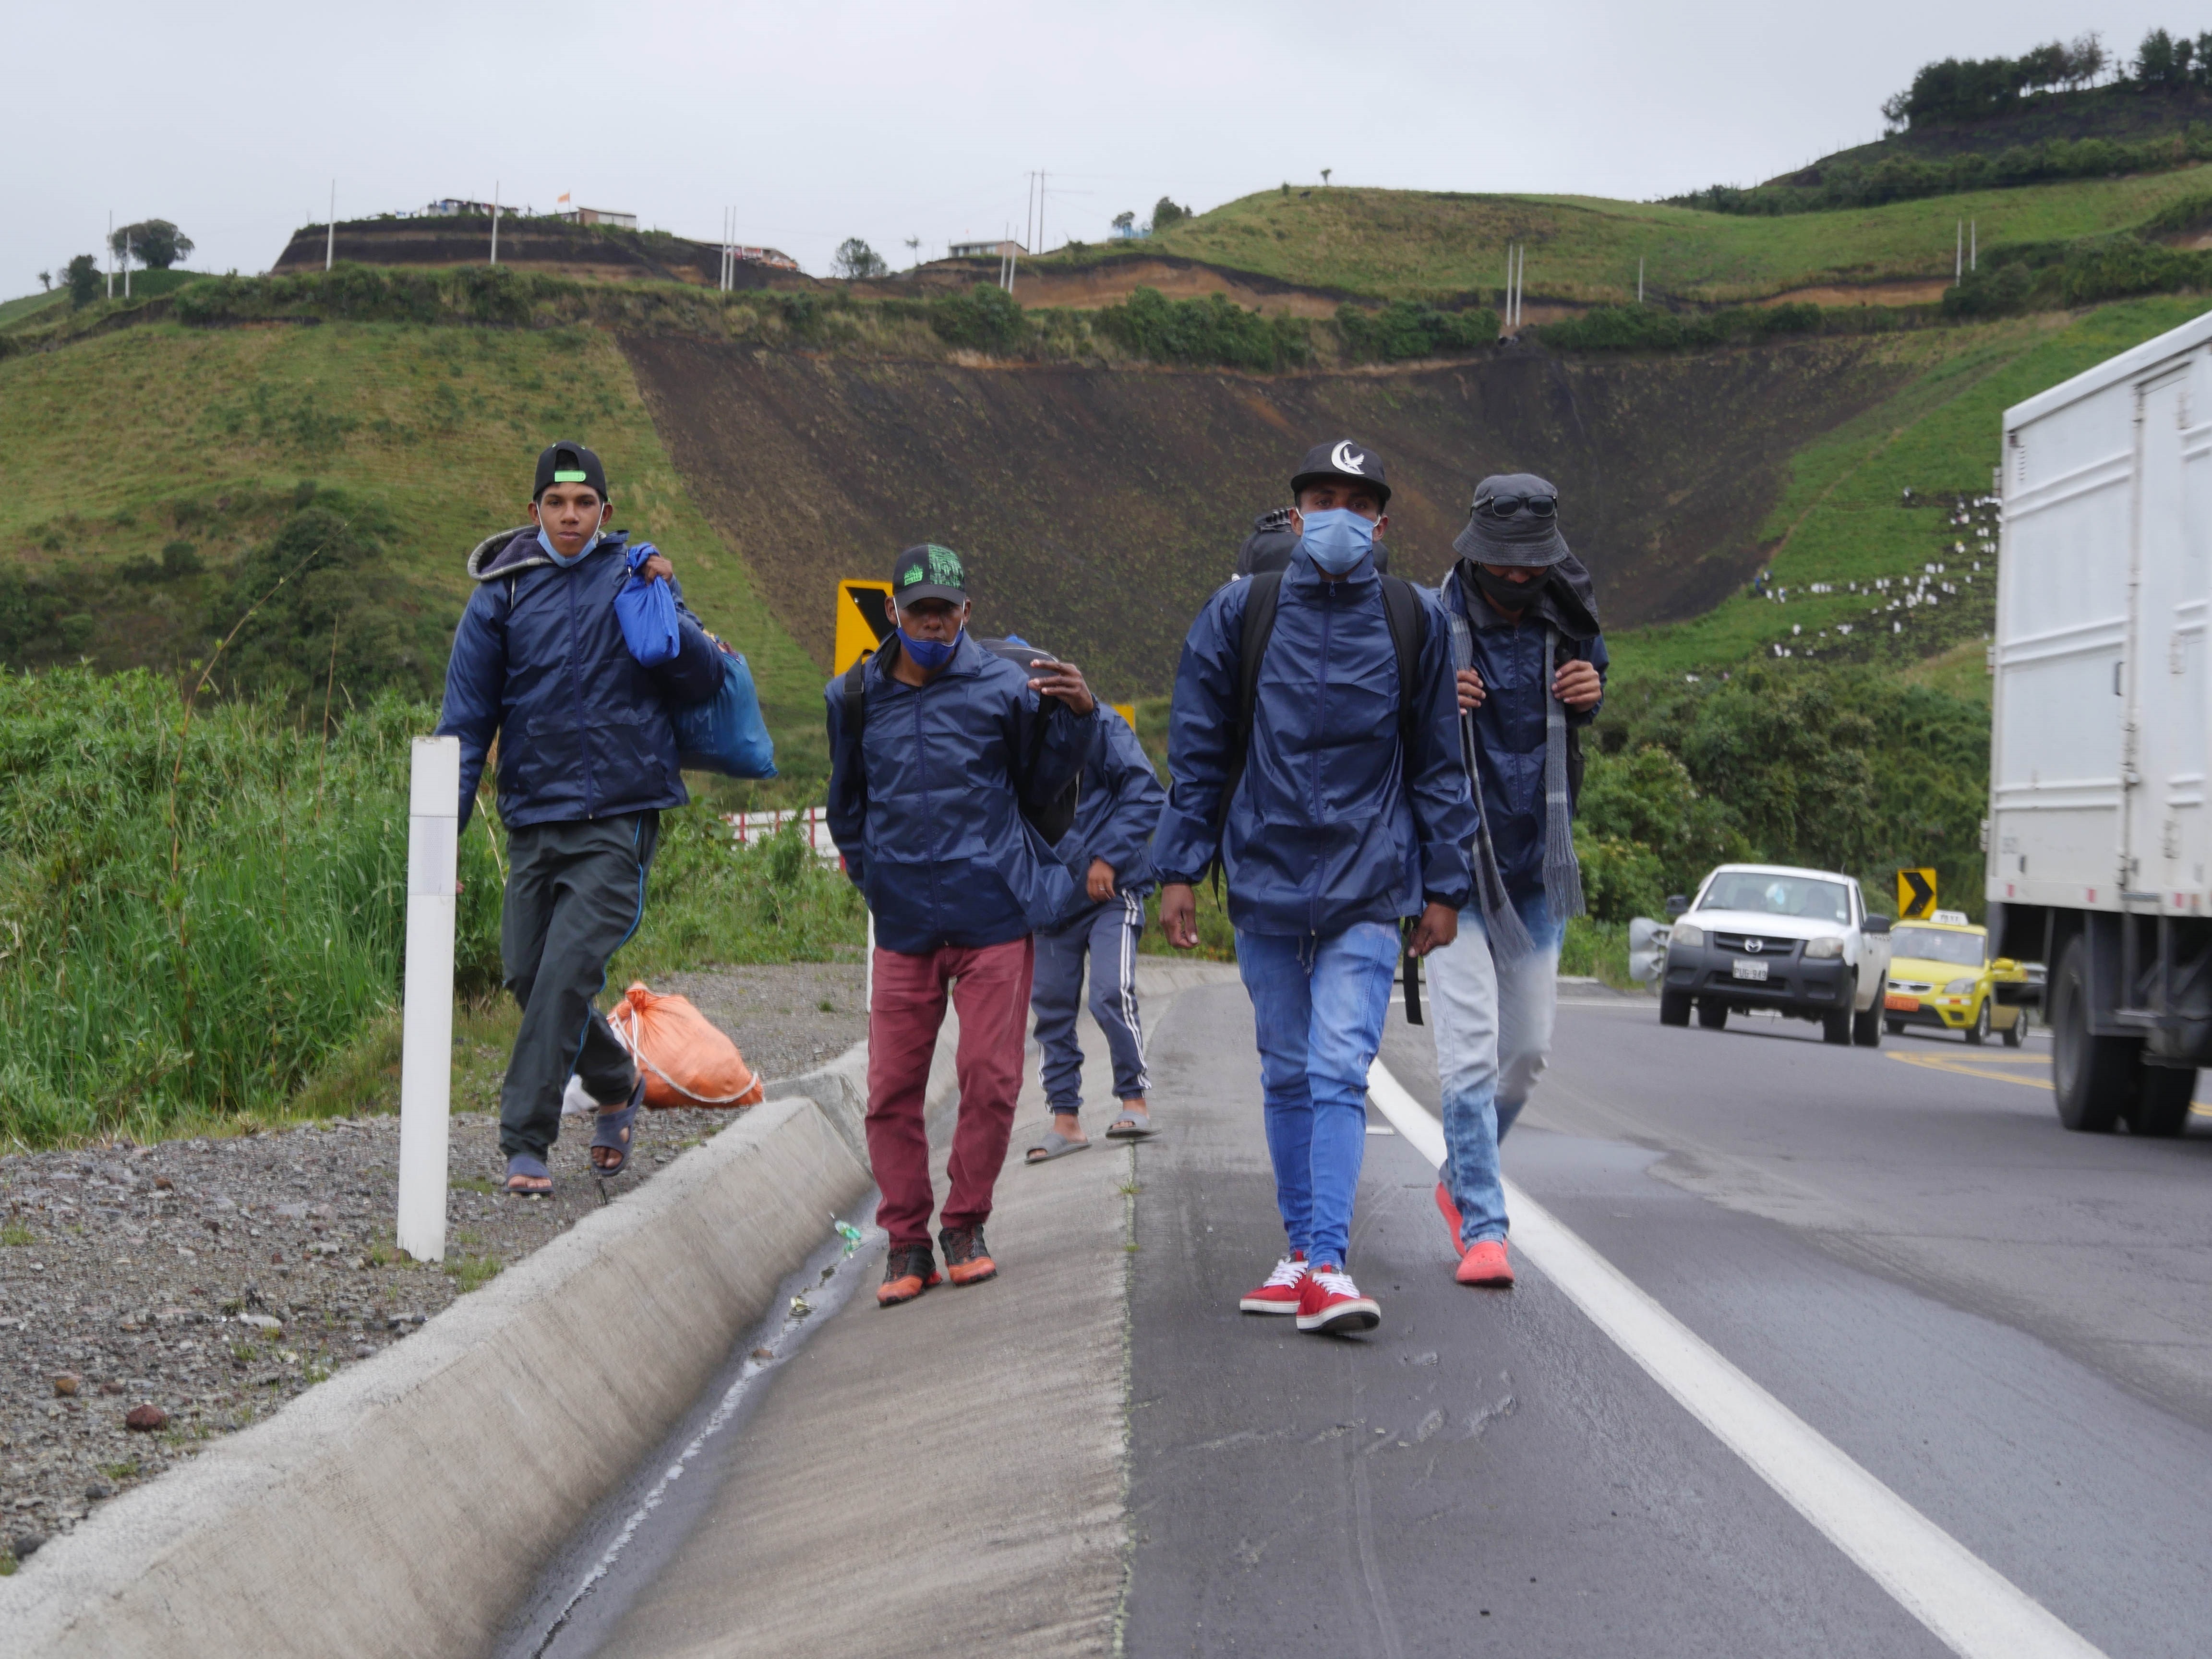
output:
[[[1097,728],[1097,745],[1082,772],[1075,827],[1057,849],[1084,885],[1084,902],[1071,918],[1037,929],[1037,975],[1029,1002],[1037,1011],[1044,1104],[1053,1126],[1029,1148],[1031,1164],[1091,1144],[1082,1126],[1084,1051],[1075,1037],[1084,956],[1091,958],[1091,1018],[1106,1033],[1113,1093],[1121,1102],[1106,1139],[1135,1141],[1155,1133],[1146,1102],[1152,1084],[1144,1071],[1144,1015],[1137,1013],[1137,940],[1144,936],[1144,896],[1152,891],[1152,830],[1168,792],[1159,787],[1159,774],[1128,721],[1102,708]]]

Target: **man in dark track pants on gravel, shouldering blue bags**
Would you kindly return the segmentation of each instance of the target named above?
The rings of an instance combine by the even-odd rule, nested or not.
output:
[[[509,858],[500,962],[522,1006],[500,1088],[500,1150],[518,1194],[553,1190],[544,1159],[571,1073],[599,1106],[593,1168],[619,1175],[630,1161],[641,1084],[593,998],[644,916],[661,807],[690,799],[670,703],[712,697],[721,675],[681,593],[677,659],[641,668],[630,655],[615,593],[630,580],[633,551],[628,531],[606,533],[613,511],[599,458],[575,442],[549,445],[531,522],[469,553],[476,593],[445,666],[438,734],[460,739],[462,830],[484,754],[500,741]],[[659,553],[637,577],[675,586]]]

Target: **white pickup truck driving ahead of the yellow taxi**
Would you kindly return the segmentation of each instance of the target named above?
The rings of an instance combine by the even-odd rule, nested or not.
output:
[[[1730,1009],[1774,1009],[1816,1020],[1827,1042],[1880,1046],[1889,918],[1867,914],[1849,876],[1721,865],[1694,902],[1668,911],[1659,1024],[1686,1026],[1694,1006],[1697,1022],[1719,1031]]]

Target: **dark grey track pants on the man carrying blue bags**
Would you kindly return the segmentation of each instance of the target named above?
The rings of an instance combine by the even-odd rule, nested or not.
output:
[[[575,1073],[604,1104],[628,1099],[637,1068],[593,998],[606,962],[646,914],[646,872],[661,814],[533,823],[507,836],[500,964],[522,1031],[500,1088],[500,1150],[544,1157],[560,1135],[560,1097]]]

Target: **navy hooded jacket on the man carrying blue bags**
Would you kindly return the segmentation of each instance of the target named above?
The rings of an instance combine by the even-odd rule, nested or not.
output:
[[[717,681],[697,679],[699,653],[712,653],[712,644],[677,588],[681,657],[664,668],[637,666],[615,619],[615,593],[628,580],[626,544],[628,531],[613,531],[564,571],[524,526],[487,535],[469,555],[476,593],[453,633],[438,714],[438,737],[460,739],[465,830],[493,737],[500,821],[509,830],[690,801],[677,770],[670,699],[712,695]]]

